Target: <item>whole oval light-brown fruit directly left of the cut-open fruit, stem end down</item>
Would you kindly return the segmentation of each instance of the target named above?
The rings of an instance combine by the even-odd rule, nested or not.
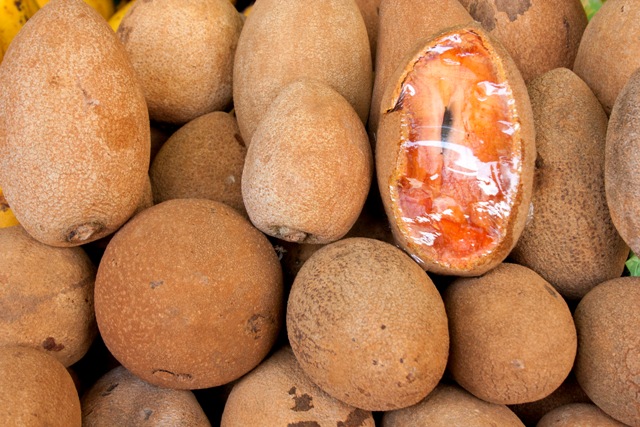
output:
[[[324,83],[298,81],[278,95],[254,134],[242,197],[262,232],[329,243],[356,222],[372,173],[367,133],[351,105]]]

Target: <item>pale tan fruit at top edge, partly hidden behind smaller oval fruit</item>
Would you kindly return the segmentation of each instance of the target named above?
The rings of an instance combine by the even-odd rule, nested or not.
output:
[[[353,0],[260,0],[247,18],[233,68],[233,101],[242,138],[290,83],[315,79],[344,96],[366,122],[371,101],[367,29]]]

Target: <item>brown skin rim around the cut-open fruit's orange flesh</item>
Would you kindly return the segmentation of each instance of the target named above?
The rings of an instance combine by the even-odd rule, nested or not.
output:
[[[502,241],[499,242],[493,252],[487,256],[478,258],[475,263],[469,263],[460,268],[456,268],[421,256],[419,253],[419,247],[417,247],[412,241],[408,240],[398,228],[397,222],[401,221],[401,219],[396,218],[394,203],[391,200],[389,183],[391,182],[397,167],[396,165],[398,162],[400,142],[402,138],[402,125],[401,113],[390,110],[392,110],[397,104],[402,81],[404,80],[407,70],[414,62],[414,59],[421,54],[424,48],[445,34],[452,34],[465,30],[474,31],[476,34],[481,36],[485,41],[485,45],[488,50],[493,53],[493,61],[496,64],[499,76],[507,80],[510,84],[513,95],[512,99],[515,102],[520,123],[520,141],[519,144],[515,145],[521,159],[522,169],[517,193],[514,198],[513,205],[511,206],[510,220],[506,225],[507,229],[504,232]],[[390,84],[387,86],[387,90],[383,97],[381,111],[384,111],[385,113],[382,114],[380,118],[380,127],[378,128],[378,140],[375,153],[378,187],[380,188],[382,202],[391,224],[391,231],[393,232],[398,245],[414,256],[414,259],[416,259],[415,257],[417,256],[418,259],[416,259],[416,261],[426,271],[443,275],[479,276],[492,268],[495,268],[507,257],[507,255],[509,255],[524,229],[527,215],[529,213],[531,196],[533,194],[533,174],[536,148],[533,111],[531,110],[527,87],[520,76],[520,72],[513,63],[513,60],[502,45],[477,24],[452,27],[433,36],[433,38],[428,41],[421,42],[420,46],[405,58],[403,64],[406,64],[406,66],[402,65],[398,67],[395,75],[390,79]]]

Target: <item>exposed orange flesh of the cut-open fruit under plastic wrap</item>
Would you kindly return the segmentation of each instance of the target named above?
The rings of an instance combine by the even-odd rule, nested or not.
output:
[[[477,264],[506,232],[520,176],[508,82],[473,31],[438,39],[413,64],[394,111],[403,140],[391,195],[414,253]]]

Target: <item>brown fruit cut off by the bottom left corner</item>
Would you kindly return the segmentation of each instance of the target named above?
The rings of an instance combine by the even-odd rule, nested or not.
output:
[[[0,425],[80,427],[80,400],[64,366],[29,347],[0,347]]]

